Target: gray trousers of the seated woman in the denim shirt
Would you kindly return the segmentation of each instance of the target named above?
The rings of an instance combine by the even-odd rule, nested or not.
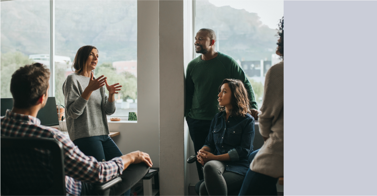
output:
[[[200,185],[200,196],[227,196],[239,191],[245,176],[225,170],[221,161],[208,161],[204,164],[204,182]]]

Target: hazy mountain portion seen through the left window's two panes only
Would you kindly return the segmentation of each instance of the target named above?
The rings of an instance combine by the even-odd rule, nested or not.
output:
[[[136,0],[56,0],[55,54],[72,60],[83,45],[94,45],[100,63],[136,60]],[[49,1],[1,2],[2,53],[49,54]]]

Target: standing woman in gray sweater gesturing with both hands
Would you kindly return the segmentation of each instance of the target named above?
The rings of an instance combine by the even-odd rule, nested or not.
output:
[[[69,138],[87,156],[98,161],[111,160],[123,155],[108,136],[106,115],[115,112],[114,95],[121,86],[109,85],[106,77],[94,78],[98,50],[86,45],[78,49],[72,68],[63,84],[66,121]],[[105,93],[105,86],[109,95]]]

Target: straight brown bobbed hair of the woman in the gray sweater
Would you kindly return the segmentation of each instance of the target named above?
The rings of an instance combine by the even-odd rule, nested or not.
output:
[[[88,57],[94,48],[98,51],[98,49],[92,45],[84,45],[78,49],[72,63],[72,71],[75,69],[75,73],[79,75],[86,71],[86,60],[88,60]]]

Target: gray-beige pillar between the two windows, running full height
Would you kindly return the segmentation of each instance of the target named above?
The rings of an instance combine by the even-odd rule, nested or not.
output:
[[[184,1],[159,0],[160,195],[184,191]]]

